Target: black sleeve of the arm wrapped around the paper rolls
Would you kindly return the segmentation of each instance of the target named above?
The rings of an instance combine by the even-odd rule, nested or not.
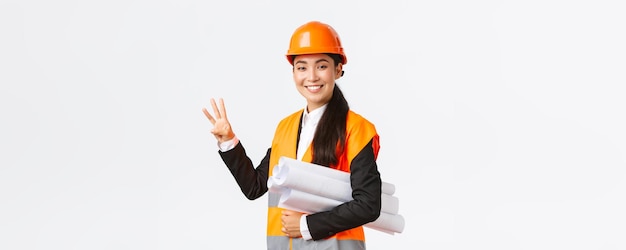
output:
[[[372,139],[350,164],[353,200],[330,211],[306,217],[313,240],[375,221],[380,215],[382,181],[372,146],[373,140],[375,139]]]

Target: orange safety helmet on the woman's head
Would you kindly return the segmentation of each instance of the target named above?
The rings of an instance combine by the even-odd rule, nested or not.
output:
[[[348,63],[339,35],[333,27],[318,21],[311,21],[298,27],[291,35],[291,43],[287,50],[289,63],[293,65],[295,55],[319,53],[338,54],[343,64]]]

